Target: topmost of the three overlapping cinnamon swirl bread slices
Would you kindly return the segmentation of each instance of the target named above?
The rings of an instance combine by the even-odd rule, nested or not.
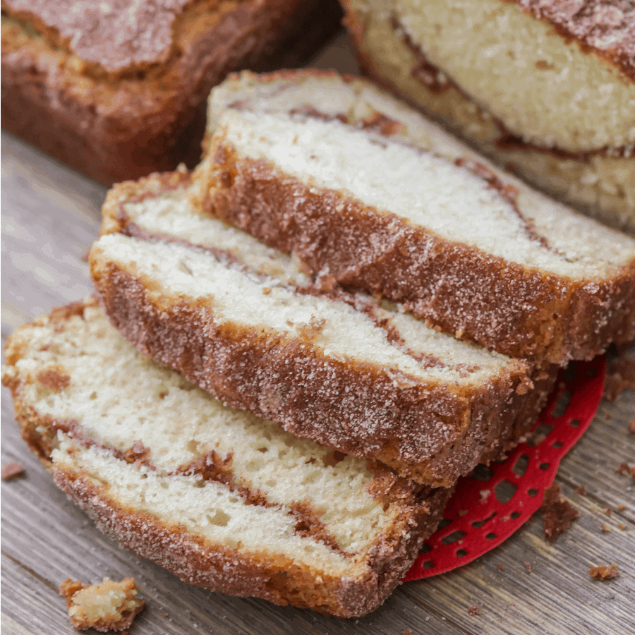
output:
[[[531,191],[372,84],[234,75],[193,201],[447,332],[565,364],[635,337],[635,240]]]

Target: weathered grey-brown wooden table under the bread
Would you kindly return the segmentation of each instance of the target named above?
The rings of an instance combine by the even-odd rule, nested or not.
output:
[[[355,70],[339,37],[316,66]],[[99,230],[106,188],[2,132],[2,341],[23,322],[92,291],[83,256]],[[466,567],[401,585],[358,620],[322,617],[263,600],[188,586],[100,533],[28,452],[2,389],[1,463],[25,476],[3,481],[2,634],[69,634],[67,577],[134,576],[147,609],[133,635],[152,634],[588,634],[635,633],[635,488],[619,464],[635,461],[635,394],[603,401],[557,476],[580,517],[553,545],[539,514],[502,546]],[[586,486],[586,495],[575,492]],[[622,511],[618,506],[624,506]],[[604,510],[610,509],[607,516]],[[610,529],[604,533],[600,527]],[[625,529],[620,529],[620,524]],[[531,573],[524,562],[531,563]],[[620,574],[593,581],[588,569],[615,562]],[[482,614],[469,615],[477,605]]]

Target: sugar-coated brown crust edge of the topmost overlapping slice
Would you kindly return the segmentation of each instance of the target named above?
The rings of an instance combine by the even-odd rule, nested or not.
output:
[[[635,260],[597,280],[531,270],[338,191],[308,187],[219,143],[207,171],[198,172],[202,209],[294,253],[315,274],[327,270],[446,332],[539,363],[591,359],[612,341],[635,337]]]

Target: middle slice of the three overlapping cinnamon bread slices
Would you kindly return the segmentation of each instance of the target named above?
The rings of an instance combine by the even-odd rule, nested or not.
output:
[[[91,274],[140,351],[291,433],[434,486],[536,421],[552,373],[313,284],[288,256],[195,212],[188,187],[187,174],[155,175],[104,204]]]

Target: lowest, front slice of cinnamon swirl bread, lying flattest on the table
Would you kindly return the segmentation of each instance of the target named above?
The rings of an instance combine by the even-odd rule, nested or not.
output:
[[[363,615],[449,498],[222,405],[133,349],[95,301],[18,329],[6,364],[56,484],[121,545],[213,591]]]

